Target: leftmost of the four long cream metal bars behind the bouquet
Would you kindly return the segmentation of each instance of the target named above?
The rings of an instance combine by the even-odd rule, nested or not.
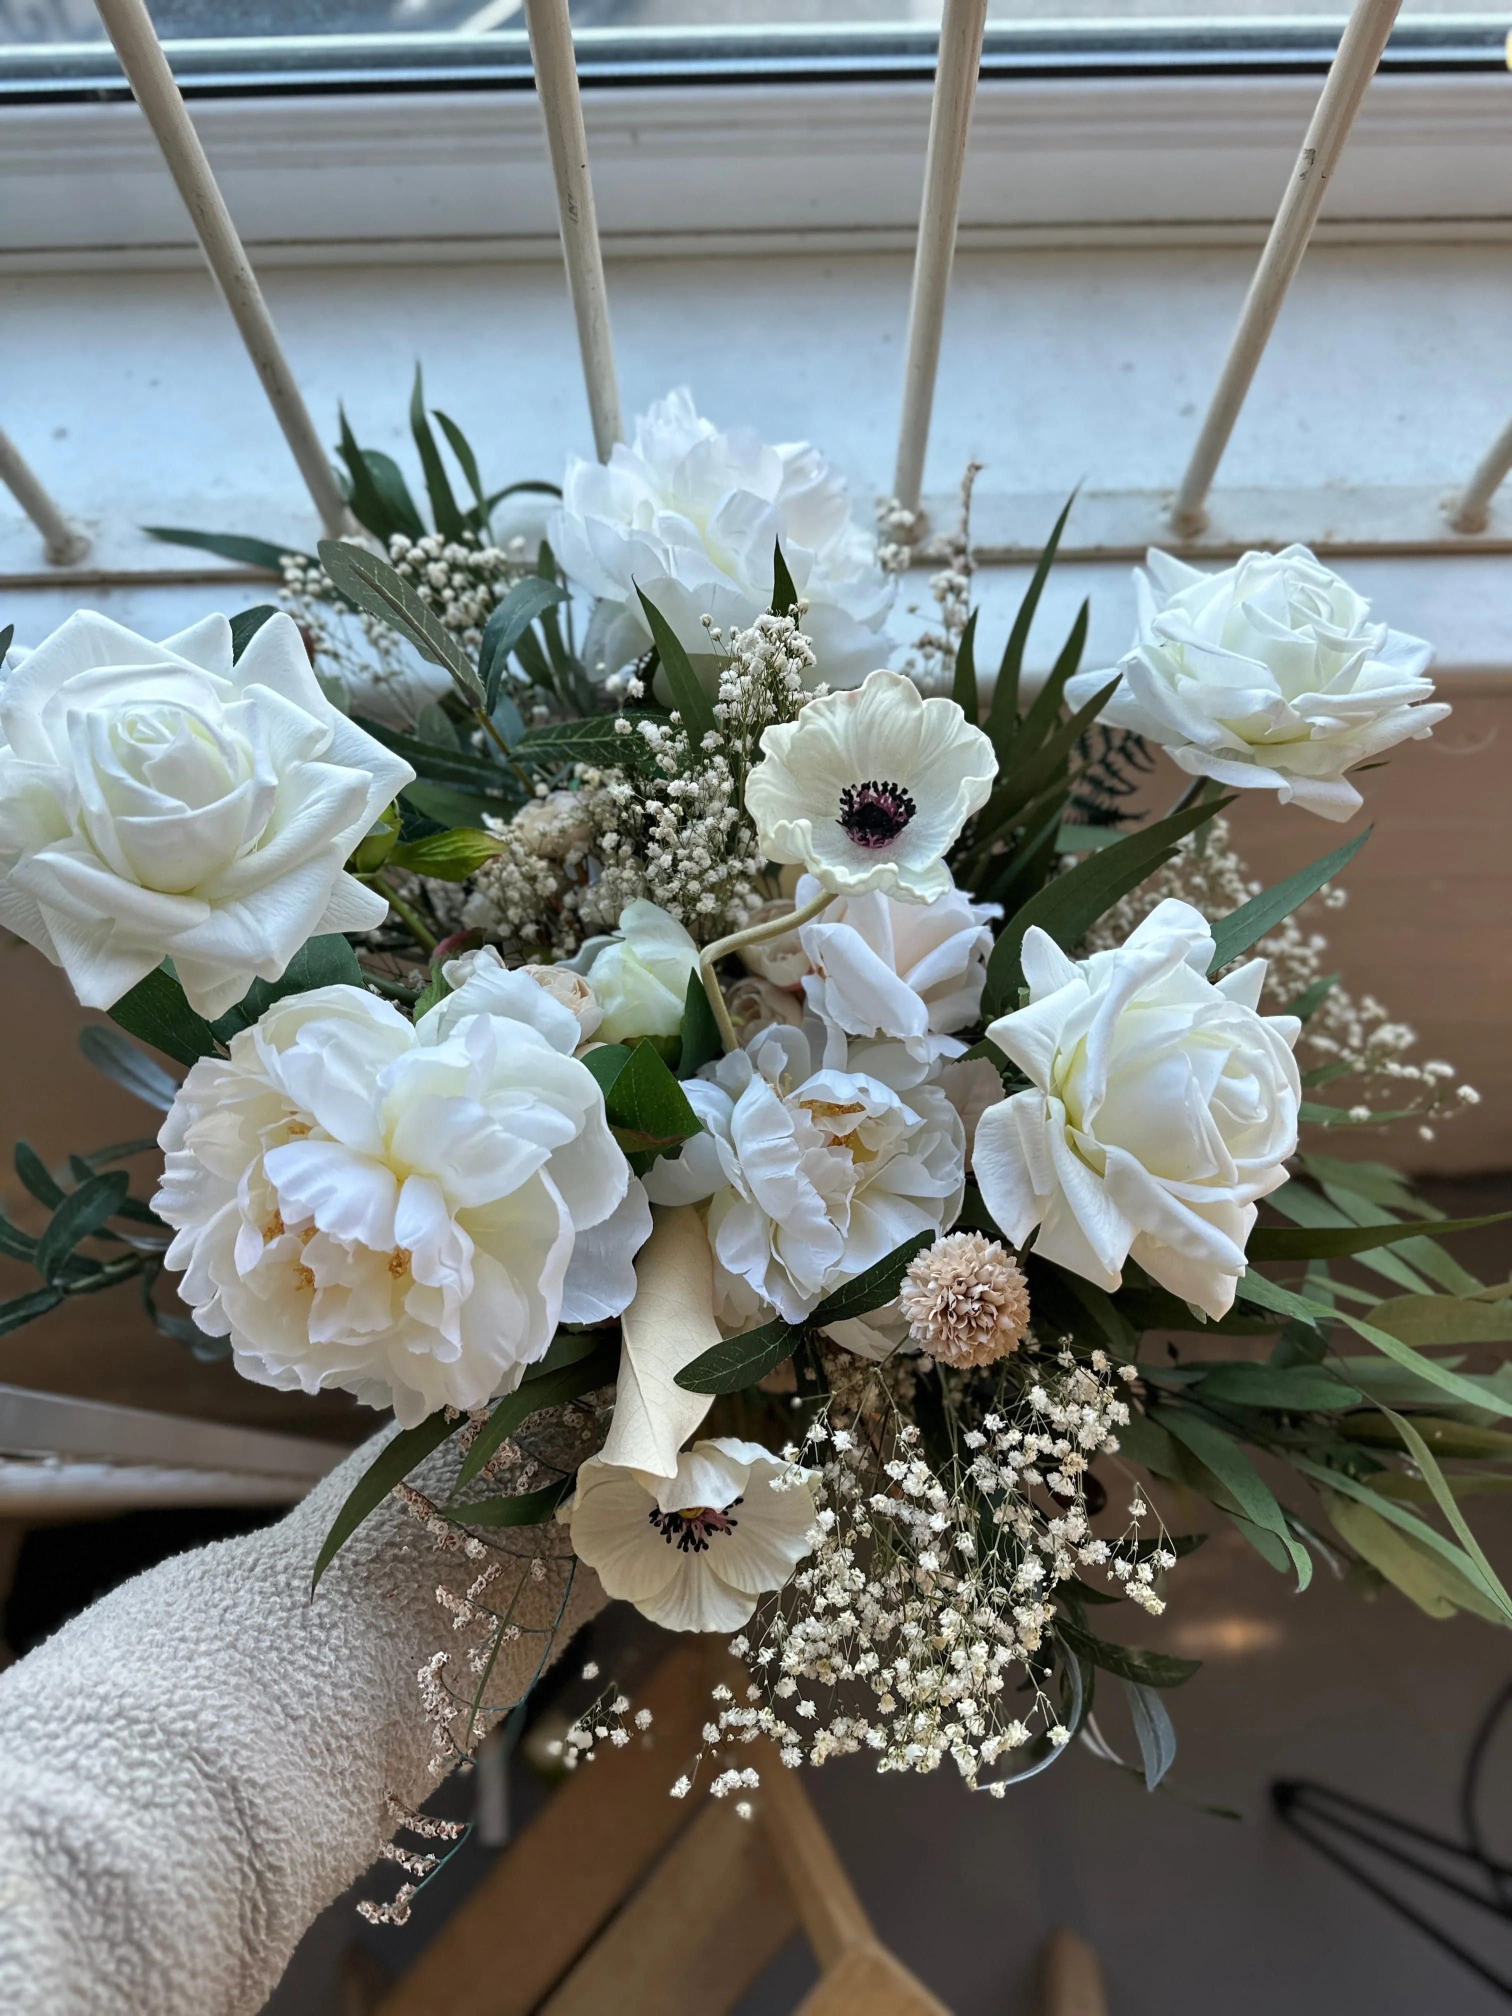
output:
[[[310,492],[321,522],[337,538],[355,532],[357,524],[337,490],[321,437],[300,397],[294,373],[288,369],[278,331],[252,272],[246,248],[232,224],[232,214],[210,171],[210,161],[194,131],[179,87],[167,67],[167,56],[147,16],[143,0],[97,0],[101,20],[115,42],[121,69],[147,115],[147,125],[163,153],[167,171],[177,183],[183,206],[200,236],[210,270],[216,276],[232,321],[242,333],[248,357],[262,379],[268,405],[284,429],[304,488]]]

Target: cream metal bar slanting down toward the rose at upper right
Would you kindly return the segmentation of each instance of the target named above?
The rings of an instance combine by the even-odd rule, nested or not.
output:
[[[1345,151],[1349,129],[1365,97],[1365,87],[1375,77],[1399,6],[1401,0],[1355,0],[1322,97],[1306,129],[1302,151],[1296,157],[1292,179],[1280,200],[1276,222],[1270,226],[1266,250],[1260,254],[1254,280],[1250,280],[1218,391],[1202,423],[1198,446],[1191,450],[1181,488],[1175,492],[1171,520],[1177,532],[1200,532],[1208,522],[1208,490],[1228,448],[1234,421],[1240,417],[1250,381],[1264,357],[1270,331],[1276,327],[1286,288],[1302,264],[1329,177]]]

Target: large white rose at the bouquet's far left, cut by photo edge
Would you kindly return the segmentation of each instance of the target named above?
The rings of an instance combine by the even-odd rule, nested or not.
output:
[[[109,1008],[163,958],[204,1016],[387,901],[343,871],[415,772],[321,691],[276,615],[232,663],[79,611],[0,685],[0,923]]]

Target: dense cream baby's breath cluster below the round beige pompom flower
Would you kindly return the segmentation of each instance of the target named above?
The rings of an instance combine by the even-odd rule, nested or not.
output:
[[[764,1629],[730,1647],[762,1697],[720,1704],[706,1736],[766,1736],[788,1766],[863,1750],[879,1770],[950,1758],[972,1788],[998,1790],[982,1772],[1036,1734],[1064,1742],[1046,1691],[1058,1585],[1091,1568],[1151,1615],[1163,1607],[1155,1579],[1175,1562],[1163,1534],[1141,1540],[1131,1516],[1101,1538],[1087,1508],[1087,1466],[1117,1452],[1129,1419],[1131,1369],[1060,1349],[986,1389],[956,1381],[960,1439],[941,1458],[907,1419],[897,1375],[853,1367],[829,1359],[833,1399],[804,1439],[823,1462],[812,1558]],[[798,1450],[786,1454],[796,1472]],[[1006,1699],[1016,1671],[1032,1685],[1024,1712]]]

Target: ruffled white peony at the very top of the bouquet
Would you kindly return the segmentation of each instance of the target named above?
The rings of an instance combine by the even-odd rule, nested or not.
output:
[[[853,524],[845,482],[806,442],[722,433],[685,387],[641,413],[609,462],[569,462],[548,536],[597,597],[583,647],[597,679],[651,647],[637,589],[696,655],[710,651],[706,617],[726,633],[754,623],[772,605],[778,540],[818,677],[849,685],[887,655],[879,633],[895,583]]]

